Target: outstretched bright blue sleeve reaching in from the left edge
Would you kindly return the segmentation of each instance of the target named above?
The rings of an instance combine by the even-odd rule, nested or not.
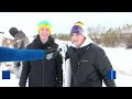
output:
[[[0,62],[24,62],[44,58],[44,50],[16,50],[0,46]]]

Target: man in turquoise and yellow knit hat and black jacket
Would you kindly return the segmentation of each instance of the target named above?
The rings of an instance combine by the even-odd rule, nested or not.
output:
[[[20,87],[62,87],[63,58],[57,52],[58,45],[51,36],[52,28],[47,21],[42,21],[37,26],[37,36],[28,45],[28,50],[54,51],[46,55],[46,59],[24,62],[20,77]]]

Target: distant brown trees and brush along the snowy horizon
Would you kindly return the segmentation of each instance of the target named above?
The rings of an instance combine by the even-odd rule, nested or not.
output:
[[[88,36],[97,44],[106,47],[124,46],[132,48],[132,24],[125,24],[122,28],[88,26]],[[70,34],[55,33],[54,38],[70,41]]]

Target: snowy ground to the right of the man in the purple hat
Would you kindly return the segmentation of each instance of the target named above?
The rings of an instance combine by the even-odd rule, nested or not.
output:
[[[103,47],[113,69],[117,70],[118,87],[132,87],[132,50]]]

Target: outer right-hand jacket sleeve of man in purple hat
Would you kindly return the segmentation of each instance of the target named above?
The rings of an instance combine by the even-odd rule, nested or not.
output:
[[[96,67],[99,70],[107,87],[116,87],[113,79],[108,79],[108,72],[113,70],[112,65],[102,48],[97,51]]]

